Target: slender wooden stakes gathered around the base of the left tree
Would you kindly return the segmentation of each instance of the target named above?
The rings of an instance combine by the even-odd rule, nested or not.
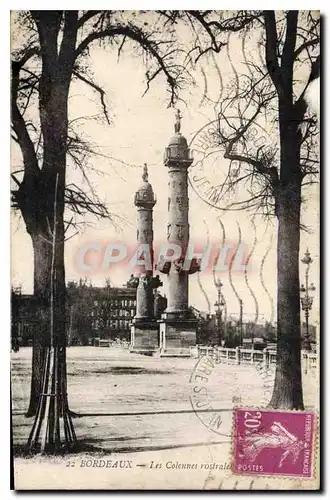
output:
[[[60,160],[61,148],[55,158]],[[55,163],[58,167],[60,163]],[[63,164],[62,171],[65,169]],[[56,175],[52,230],[52,259],[50,267],[50,329],[46,346],[42,390],[28,449],[56,453],[72,448],[76,435],[69,412],[66,379],[66,289],[64,272],[64,223],[62,200],[57,210],[59,178]]]

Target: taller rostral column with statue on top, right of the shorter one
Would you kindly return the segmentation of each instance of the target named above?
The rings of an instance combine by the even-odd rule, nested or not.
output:
[[[196,345],[196,319],[188,307],[189,274],[199,270],[192,260],[184,265],[189,243],[188,168],[193,162],[186,138],[181,134],[181,115],[176,113],[175,135],[165,149],[164,164],[169,174],[167,241],[181,248],[176,261],[164,259],[158,270],[168,276],[168,305],[160,320],[160,355],[190,356],[190,348]]]

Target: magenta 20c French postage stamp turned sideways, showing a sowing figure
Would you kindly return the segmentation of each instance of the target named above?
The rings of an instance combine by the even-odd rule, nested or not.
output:
[[[313,412],[234,410],[233,472],[311,478]]]

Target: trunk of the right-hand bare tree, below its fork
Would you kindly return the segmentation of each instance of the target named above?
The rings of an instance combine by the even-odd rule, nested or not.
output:
[[[277,193],[277,363],[272,408],[303,409],[299,297],[300,132],[280,113],[281,180]],[[281,122],[282,118],[282,122]]]

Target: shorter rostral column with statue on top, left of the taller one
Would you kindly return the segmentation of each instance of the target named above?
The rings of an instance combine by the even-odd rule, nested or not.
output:
[[[149,247],[151,265],[142,266],[138,273],[136,289],[136,315],[131,325],[131,352],[152,355],[159,350],[159,325],[154,318],[153,291],[162,285],[159,277],[153,276],[153,207],[156,204],[151,184],[148,182],[148,168],[144,165],[142,185],[135,193],[137,207],[137,244]]]

